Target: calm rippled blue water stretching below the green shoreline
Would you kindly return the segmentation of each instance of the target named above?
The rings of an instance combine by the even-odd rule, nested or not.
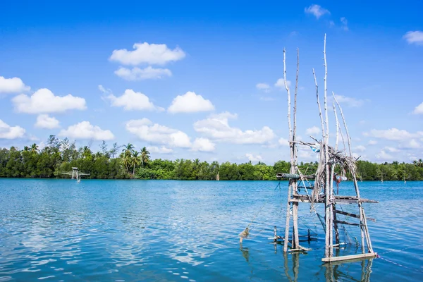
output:
[[[300,204],[300,235],[319,233],[302,243],[312,251],[284,255],[267,240],[273,226],[283,235],[287,186],[277,184],[0,179],[0,281],[423,279],[423,183],[360,183],[362,197],[380,201],[365,208],[376,219],[369,230],[382,258],[332,267],[321,264],[324,235],[307,204]],[[351,195],[351,183],[341,192]],[[240,246],[238,233],[258,212],[252,238]],[[356,229],[341,238],[354,242]],[[354,243],[341,250],[355,252]]]

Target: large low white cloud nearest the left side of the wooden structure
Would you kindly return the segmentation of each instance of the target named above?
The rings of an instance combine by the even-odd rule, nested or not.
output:
[[[214,114],[194,123],[195,131],[203,133],[212,140],[235,144],[266,144],[274,139],[271,128],[264,126],[261,130],[240,130],[228,124],[229,118],[237,118],[236,114],[224,112]]]

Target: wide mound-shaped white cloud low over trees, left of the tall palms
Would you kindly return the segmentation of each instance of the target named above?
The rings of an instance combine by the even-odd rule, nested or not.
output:
[[[71,125],[68,129],[59,132],[59,136],[73,139],[93,139],[93,140],[112,140],[113,133],[110,130],[102,130],[97,125],[92,125],[89,121],[82,121]]]

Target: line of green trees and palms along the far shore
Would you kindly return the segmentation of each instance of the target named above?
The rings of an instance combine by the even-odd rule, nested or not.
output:
[[[39,149],[32,144],[23,149],[0,148],[0,177],[3,178],[67,178],[66,174],[78,167],[85,178],[97,179],[177,179],[177,180],[276,180],[276,173],[288,173],[288,161],[276,161],[267,165],[259,161],[244,164],[231,164],[200,159],[151,159],[146,147],[135,150],[132,144],[111,148],[102,142],[98,152],[91,146],[76,147],[75,142],[67,138],[59,140],[51,135],[47,146]],[[300,163],[304,174],[312,174],[317,169],[317,162]],[[412,164],[392,163],[376,164],[369,161],[357,161],[357,172],[361,180],[423,180],[423,160]]]

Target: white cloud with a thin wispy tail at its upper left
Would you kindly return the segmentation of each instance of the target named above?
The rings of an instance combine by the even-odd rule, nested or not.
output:
[[[108,94],[106,99],[111,101],[111,106],[121,106],[126,111],[164,111],[163,108],[159,106],[154,106],[152,102],[150,102],[149,97],[141,92],[135,92],[132,89],[127,89],[120,97],[116,97],[114,94],[111,93],[110,90],[104,89],[102,85],[99,85],[99,90],[103,93]]]

